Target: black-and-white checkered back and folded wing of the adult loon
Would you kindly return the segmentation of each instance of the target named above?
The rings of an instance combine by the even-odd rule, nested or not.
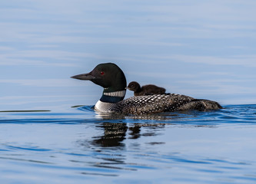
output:
[[[175,110],[217,110],[221,106],[211,100],[198,100],[181,94],[155,94],[130,97],[115,104],[119,113],[146,114]]]

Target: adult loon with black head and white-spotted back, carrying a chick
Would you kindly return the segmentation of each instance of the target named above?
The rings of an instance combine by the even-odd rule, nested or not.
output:
[[[181,94],[154,94],[130,97],[124,100],[126,78],[121,69],[113,63],[98,64],[88,74],[71,78],[92,81],[104,87],[95,110],[102,113],[147,114],[175,110],[218,110],[221,105],[211,100],[199,100]]]

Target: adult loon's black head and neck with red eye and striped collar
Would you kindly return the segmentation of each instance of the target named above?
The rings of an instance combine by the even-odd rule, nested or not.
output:
[[[98,64],[88,74],[78,74],[71,78],[92,81],[104,87],[102,101],[116,103],[125,97],[126,78],[120,67],[113,63]]]

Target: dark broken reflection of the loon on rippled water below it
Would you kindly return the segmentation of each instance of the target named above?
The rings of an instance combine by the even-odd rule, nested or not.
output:
[[[135,157],[141,157],[145,153],[139,152],[141,149],[141,144],[132,143],[130,148],[128,148],[128,140],[137,141],[141,136],[158,136],[158,129],[164,128],[163,123],[155,124],[142,124],[142,123],[97,123],[95,124],[95,129],[100,131],[98,136],[91,136],[85,140],[78,140],[78,147],[85,150],[92,150],[97,154],[98,161],[96,163],[91,163],[91,166],[98,168],[111,169],[113,172],[117,170],[125,170],[135,172],[141,168],[153,169],[156,167],[151,164],[144,162],[128,162],[128,154]],[[145,128],[146,132],[141,129]],[[147,143],[151,146],[157,144],[165,144],[164,142],[149,142]],[[134,151],[137,150],[137,151]],[[147,153],[148,154],[148,153]],[[89,172],[86,173],[90,175]],[[93,175],[100,175],[100,173],[93,173]],[[103,175],[101,175],[103,176]],[[109,176],[109,175],[108,175]],[[112,174],[111,176],[120,176],[117,174]]]

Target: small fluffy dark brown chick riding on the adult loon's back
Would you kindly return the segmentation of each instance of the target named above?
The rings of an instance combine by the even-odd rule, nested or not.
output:
[[[165,94],[165,88],[157,87],[153,84],[148,84],[142,86],[138,84],[138,82],[132,81],[126,87],[128,90],[133,90],[135,97],[136,96],[143,96],[143,95],[151,95],[151,94]]]

